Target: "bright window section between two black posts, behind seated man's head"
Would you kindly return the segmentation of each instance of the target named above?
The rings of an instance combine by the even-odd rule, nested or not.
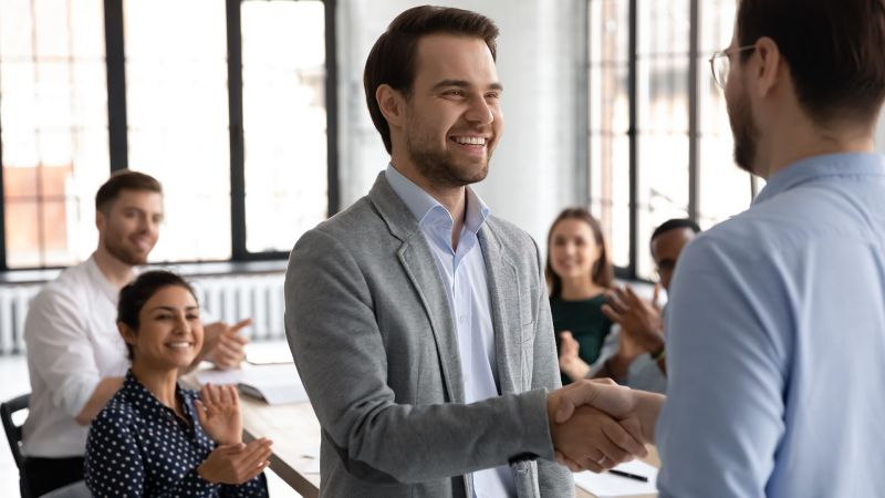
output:
[[[229,259],[225,3],[125,0],[123,14],[128,166],[165,190],[166,220],[152,258]]]

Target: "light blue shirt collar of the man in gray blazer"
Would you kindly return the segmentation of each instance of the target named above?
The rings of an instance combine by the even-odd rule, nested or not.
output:
[[[384,176],[387,178],[387,183],[391,184],[391,188],[403,199],[408,210],[415,216],[415,219],[418,220],[418,225],[423,225],[431,211],[445,212],[449,221],[451,221],[451,214],[445,206],[396,170],[392,164],[387,165],[387,170],[384,173]],[[491,215],[491,209],[472,188],[468,186],[466,191],[467,214],[465,216],[465,228],[476,234],[482,228],[482,225]]]

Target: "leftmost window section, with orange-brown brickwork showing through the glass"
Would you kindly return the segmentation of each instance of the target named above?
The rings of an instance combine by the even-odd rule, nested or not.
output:
[[[0,143],[9,268],[69,264],[95,243],[107,176],[101,0],[0,2]]]

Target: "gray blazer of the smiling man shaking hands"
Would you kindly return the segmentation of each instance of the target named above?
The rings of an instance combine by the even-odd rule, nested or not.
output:
[[[479,241],[501,396],[471,404],[442,279],[384,173],[295,245],[285,324],[323,429],[321,497],[470,497],[466,474],[508,463],[519,497],[574,496],[553,461],[560,376],[538,247],[494,217]]]

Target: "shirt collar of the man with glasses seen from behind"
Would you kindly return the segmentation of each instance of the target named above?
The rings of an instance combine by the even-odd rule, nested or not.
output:
[[[885,156],[873,153],[825,154],[800,159],[769,178],[753,204],[821,177],[860,177],[885,175]]]

